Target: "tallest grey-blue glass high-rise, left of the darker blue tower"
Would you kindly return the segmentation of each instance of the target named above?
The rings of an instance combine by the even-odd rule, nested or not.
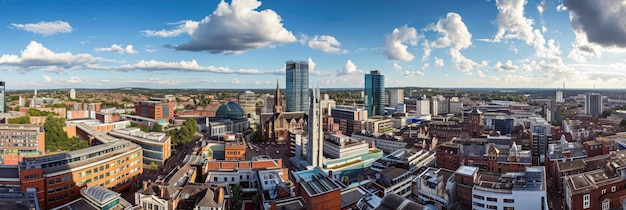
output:
[[[309,62],[287,61],[287,112],[304,112],[309,108]]]

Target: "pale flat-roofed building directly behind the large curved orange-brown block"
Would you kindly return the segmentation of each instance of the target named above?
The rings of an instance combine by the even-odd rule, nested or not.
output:
[[[139,128],[125,128],[112,130],[109,135],[140,145],[143,149],[143,163],[147,165],[163,165],[172,155],[172,138],[162,132],[146,133]]]

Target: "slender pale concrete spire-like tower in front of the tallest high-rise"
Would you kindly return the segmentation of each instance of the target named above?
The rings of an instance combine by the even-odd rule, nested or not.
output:
[[[322,110],[320,105],[320,89],[311,90],[309,107],[309,140],[307,142],[307,161],[313,167],[324,165],[324,126],[322,126]]]

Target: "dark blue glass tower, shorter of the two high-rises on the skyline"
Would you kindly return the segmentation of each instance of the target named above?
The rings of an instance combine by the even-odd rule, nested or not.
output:
[[[385,75],[379,70],[365,75],[365,109],[367,114],[384,115],[385,107]]]

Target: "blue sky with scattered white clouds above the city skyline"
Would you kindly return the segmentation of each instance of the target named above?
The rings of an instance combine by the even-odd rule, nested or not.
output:
[[[0,2],[7,89],[626,88],[624,0]],[[4,27],[2,27],[4,26]]]

